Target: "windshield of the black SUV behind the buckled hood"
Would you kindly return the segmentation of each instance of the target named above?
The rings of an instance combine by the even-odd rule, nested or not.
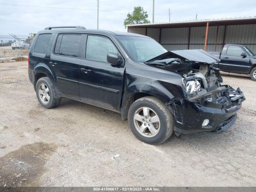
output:
[[[117,36],[127,52],[138,62],[148,61],[167,50],[152,38]]]

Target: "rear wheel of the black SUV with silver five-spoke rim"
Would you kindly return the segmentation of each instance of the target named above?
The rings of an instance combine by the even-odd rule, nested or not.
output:
[[[44,108],[54,108],[60,104],[61,99],[48,77],[42,77],[36,82],[36,96]]]

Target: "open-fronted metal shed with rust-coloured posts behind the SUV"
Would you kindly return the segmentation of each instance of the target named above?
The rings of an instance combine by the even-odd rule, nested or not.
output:
[[[256,52],[256,17],[134,24],[128,32],[150,36],[167,50],[221,51],[224,44],[242,44]]]

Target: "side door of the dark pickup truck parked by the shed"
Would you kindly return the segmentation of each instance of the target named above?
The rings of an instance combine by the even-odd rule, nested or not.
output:
[[[242,47],[229,45],[224,55],[221,56],[220,69],[228,72],[246,73],[250,62],[250,56],[243,58],[241,53],[247,53]]]

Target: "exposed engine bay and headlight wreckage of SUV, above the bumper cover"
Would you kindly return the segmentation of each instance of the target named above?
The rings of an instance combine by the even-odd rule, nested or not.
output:
[[[214,102],[226,108],[240,104],[245,100],[243,92],[238,88],[222,86],[221,74],[217,68],[205,63],[192,64],[189,72],[183,72],[183,84],[189,100],[196,102]],[[185,73],[184,73],[185,72]],[[200,99],[203,100],[200,100]]]

